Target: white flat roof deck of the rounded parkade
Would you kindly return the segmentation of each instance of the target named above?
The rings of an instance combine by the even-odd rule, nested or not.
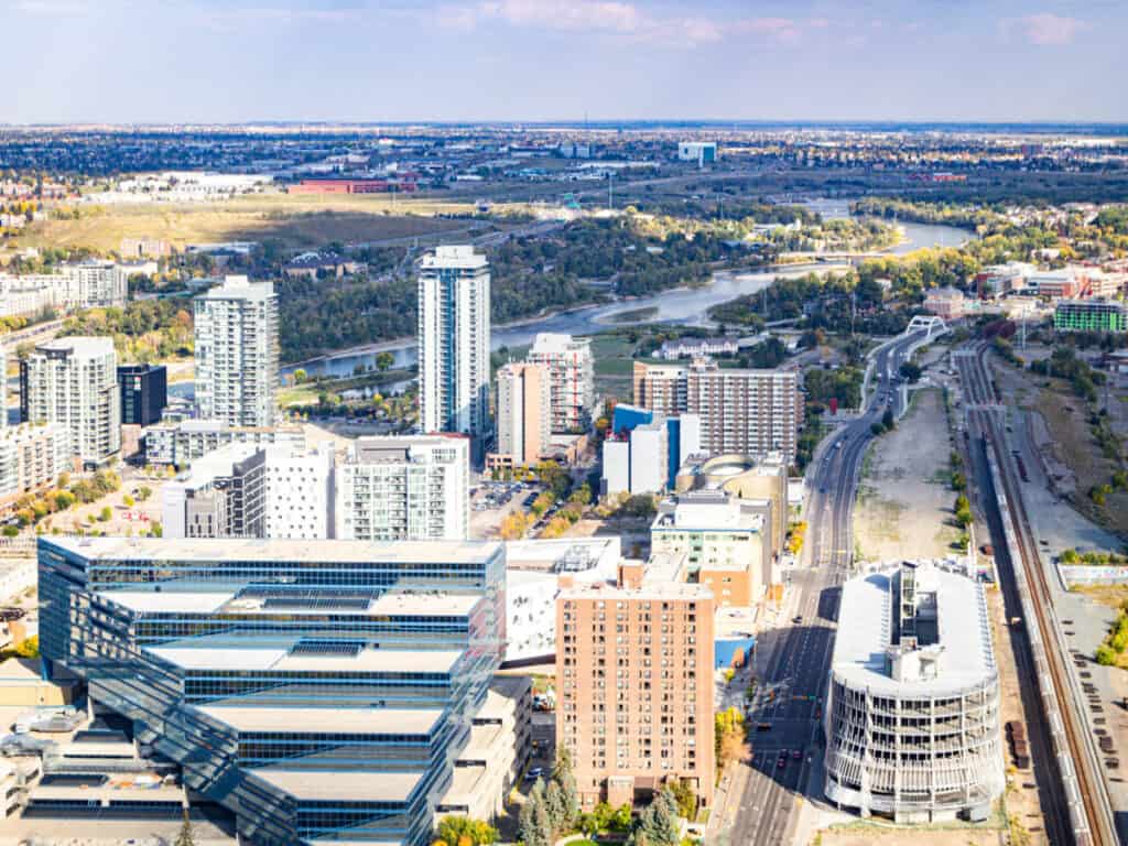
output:
[[[917,567],[918,593],[935,590],[941,669],[926,680],[895,680],[887,650],[896,631],[895,576],[899,567],[860,575],[843,585],[831,670],[853,687],[873,693],[944,696],[997,673],[982,585],[962,573],[932,564]]]

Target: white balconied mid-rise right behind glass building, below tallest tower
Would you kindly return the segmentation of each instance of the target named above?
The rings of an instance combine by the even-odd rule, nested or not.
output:
[[[359,438],[337,470],[336,536],[461,540],[469,532],[469,439]]]

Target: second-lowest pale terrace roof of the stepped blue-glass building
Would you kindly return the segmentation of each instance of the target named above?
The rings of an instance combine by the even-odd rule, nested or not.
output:
[[[430,734],[442,717],[441,708],[281,708],[218,703],[196,710],[240,732]]]

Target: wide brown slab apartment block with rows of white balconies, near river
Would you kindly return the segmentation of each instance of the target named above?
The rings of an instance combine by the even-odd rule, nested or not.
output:
[[[803,422],[797,371],[636,361],[634,403],[667,416],[699,415],[702,449],[710,455],[781,452],[787,464],[795,460]]]

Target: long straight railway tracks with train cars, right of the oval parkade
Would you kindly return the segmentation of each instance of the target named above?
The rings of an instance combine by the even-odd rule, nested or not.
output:
[[[1022,491],[1016,481],[1014,458],[1006,448],[1005,420],[996,403],[997,389],[990,381],[985,361],[985,345],[975,354],[961,356],[960,372],[967,390],[969,432],[975,429],[984,439],[984,448],[994,455],[1003,494],[1001,517],[1010,521],[1007,539],[1013,539],[1016,555],[1012,557],[1014,578],[1025,583],[1033,620],[1028,619],[1026,637],[1034,662],[1034,672],[1046,710],[1050,742],[1058,759],[1060,788],[1052,791],[1063,821],[1076,846],[1113,846],[1119,843],[1109,803],[1107,785],[1100,772],[1100,758],[1089,735],[1084,712],[1077,700],[1066,646],[1054,620],[1051,593]],[[1011,546],[1011,544],[1008,544]],[[1020,585],[1021,593],[1021,585]],[[1030,628],[1030,624],[1034,628]],[[1049,688],[1047,688],[1047,682]]]

